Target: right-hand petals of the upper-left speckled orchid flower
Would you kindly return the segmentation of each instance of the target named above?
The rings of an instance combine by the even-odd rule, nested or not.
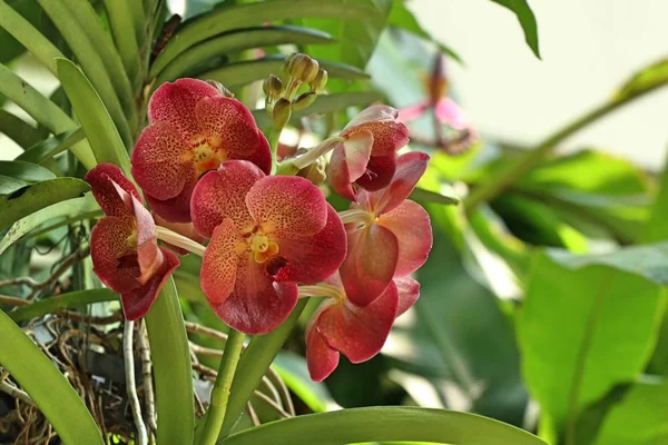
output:
[[[272,170],[269,142],[248,108],[224,96],[204,98],[195,108],[203,135],[222,159],[248,160],[265,174]]]

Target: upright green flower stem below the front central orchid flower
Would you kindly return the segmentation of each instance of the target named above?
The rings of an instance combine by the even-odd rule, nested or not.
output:
[[[212,390],[212,403],[204,426],[202,445],[215,445],[216,441],[218,441],[218,434],[220,433],[225,413],[227,412],[229,388],[232,387],[232,380],[239,362],[242,348],[244,347],[244,334],[237,330],[229,330],[218,376]]]

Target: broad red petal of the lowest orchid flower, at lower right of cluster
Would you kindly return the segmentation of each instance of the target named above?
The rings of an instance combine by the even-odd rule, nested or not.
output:
[[[342,301],[323,310],[316,329],[325,342],[352,363],[366,362],[385,344],[396,318],[399,296],[392,283],[366,307]]]

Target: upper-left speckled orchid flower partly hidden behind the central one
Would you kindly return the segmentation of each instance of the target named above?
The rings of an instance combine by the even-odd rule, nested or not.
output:
[[[151,209],[171,222],[190,221],[199,177],[227,159],[245,159],[269,172],[269,145],[250,111],[196,79],[163,83],[148,103],[149,126],[132,152],[132,177]]]

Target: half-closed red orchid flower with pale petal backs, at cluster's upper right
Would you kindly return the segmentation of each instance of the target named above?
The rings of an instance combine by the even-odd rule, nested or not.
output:
[[[396,150],[409,142],[409,129],[397,116],[392,107],[374,105],[341,131],[343,141],[334,148],[327,171],[338,195],[357,201],[353,184],[369,191],[390,184],[396,169]]]

